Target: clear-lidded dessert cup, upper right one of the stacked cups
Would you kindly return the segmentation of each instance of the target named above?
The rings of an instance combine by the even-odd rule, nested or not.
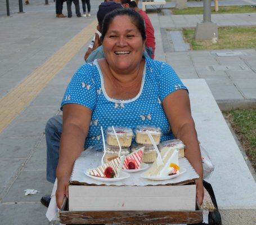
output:
[[[161,128],[149,126],[149,125],[138,125],[135,129],[135,140],[141,145],[152,145],[152,142],[147,134],[149,132],[154,139],[156,145],[159,144],[162,135]]]

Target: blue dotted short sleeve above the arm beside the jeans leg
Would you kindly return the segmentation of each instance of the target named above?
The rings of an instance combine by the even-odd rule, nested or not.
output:
[[[93,80],[93,65],[84,64],[71,78],[61,102],[61,110],[62,106],[70,103],[83,105],[93,110],[96,101],[97,92]]]

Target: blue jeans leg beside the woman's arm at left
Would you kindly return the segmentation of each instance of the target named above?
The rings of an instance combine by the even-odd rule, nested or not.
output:
[[[55,182],[59,161],[60,137],[62,133],[62,115],[53,116],[46,124],[47,165],[46,179]]]

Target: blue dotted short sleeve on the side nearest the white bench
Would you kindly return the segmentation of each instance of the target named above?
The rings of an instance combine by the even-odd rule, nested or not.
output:
[[[158,74],[160,100],[163,101],[166,96],[178,89],[187,90],[172,67],[165,62],[160,63],[161,65],[158,67],[160,68],[160,73]]]

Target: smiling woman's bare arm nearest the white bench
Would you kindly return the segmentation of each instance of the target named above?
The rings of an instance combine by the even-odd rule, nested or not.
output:
[[[200,176],[196,180],[196,197],[201,204],[204,197],[203,165],[187,91],[179,89],[170,93],[164,98],[163,106],[174,136],[185,143],[185,156]]]

